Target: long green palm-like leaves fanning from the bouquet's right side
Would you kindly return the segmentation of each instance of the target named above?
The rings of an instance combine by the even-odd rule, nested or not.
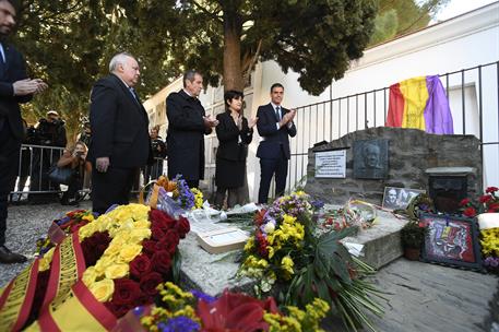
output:
[[[311,241],[308,248],[304,248],[312,250],[313,254],[308,254],[310,263],[293,278],[286,303],[305,306],[319,297],[326,303],[334,303],[348,330],[357,331],[366,325],[375,331],[365,311],[381,317],[383,308],[371,295],[380,298],[382,296],[370,283],[358,277],[373,274],[375,270],[353,258],[340,242],[356,232],[355,227],[330,232]],[[353,277],[352,274],[359,275]]]

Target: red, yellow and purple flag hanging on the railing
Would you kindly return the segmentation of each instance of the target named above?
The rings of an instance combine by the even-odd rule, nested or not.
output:
[[[451,108],[439,76],[419,76],[391,85],[385,126],[454,133]]]

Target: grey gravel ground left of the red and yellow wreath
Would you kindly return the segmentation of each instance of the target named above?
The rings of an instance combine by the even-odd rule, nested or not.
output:
[[[23,264],[0,264],[0,288],[33,261],[36,240],[47,236],[54,220],[61,218],[66,212],[91,206],[90,201],[81,202],[79,208],[62,206],[59,203],[9,206],[5,245],[12,251],[26,256],[28,261]]]

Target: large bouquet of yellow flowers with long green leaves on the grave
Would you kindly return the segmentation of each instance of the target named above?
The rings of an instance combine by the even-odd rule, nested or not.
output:
[[[300,190],[276,199],[254,216],[254,233],[245,246],[238,275],[254,280],[258,296],[278,285],[286,294],[285,304],[297,306],[288,307],[288,317],[265,315],[270,331],[320,331],[317,322],[330,305],[352,330],[370,324],[365,311],[383,312],[371,298],[378,290],[359,281],[373,270],[341,244],[356,228],[318,232],[314,213],[321,208],[321,202]],[[322,301],[314,301],[316,297]]]

